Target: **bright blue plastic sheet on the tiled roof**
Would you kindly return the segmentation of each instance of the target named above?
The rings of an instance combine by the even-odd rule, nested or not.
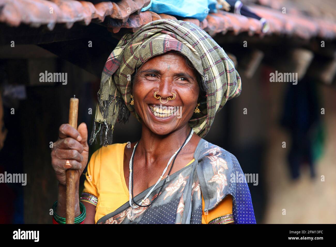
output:
[[[141,11],[170,14],[185,18],[204,20],[208,13],[216,12],[216,0],[152,0]]]

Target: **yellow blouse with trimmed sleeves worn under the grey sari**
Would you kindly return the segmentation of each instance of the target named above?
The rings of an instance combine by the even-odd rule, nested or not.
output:
[[[129,200],[129,192],[124,177],[124,149],[127,143],[116,143],[101,147],[95,151],[87,167],[86,180],[83,192],[97,197],[95,223]],[[194,162],[193,159],[187,165]],[[203,213],[202,224],[220,216],[232,214],[232,197],[227,196],[216,208],[204,212],[204,199],[202,196]],[[91,203],[94,204],[94,203]],[[95,204],[94,204],[95,205]],[[233,220],[226,223],[231,223]]]

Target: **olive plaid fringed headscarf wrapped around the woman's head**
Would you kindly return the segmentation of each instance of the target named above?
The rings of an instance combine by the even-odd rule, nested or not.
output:
[[[206,102],[200,102],[201,112],[194,113],[189,121],[200,137],[209,132],[225,102],[240,94],[241,80],[232,60],[205,31],[181,20],[155,20],[124,35],[106,61],[90,143],[98,136],[100,145],[112,144],[116,121],[125,121],[129,112],[140,120],[130,105],[131,77],[135,68],[168,51],[185,55],[207,85]]]

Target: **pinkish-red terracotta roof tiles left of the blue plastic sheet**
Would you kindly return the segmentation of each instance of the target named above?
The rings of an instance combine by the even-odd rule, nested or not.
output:
[[[102,22],[106,16],[126,21],[130,14],[139,14],[150,0],[121,0],[99,2],[77,0],[0,0],[0,22],[17,27],[21,23],[32,27],[47,25],[52,30],[56,23],[71,28],[75,22],[85,25],[92,20]]]

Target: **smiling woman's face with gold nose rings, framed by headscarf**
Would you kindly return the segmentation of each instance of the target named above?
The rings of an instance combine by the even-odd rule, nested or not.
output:
[[[134,78],[132,94],[137,114],[152,132],[166,135],[185,127],[193,115],[199,95],[197,73],[184,57],[165,53],[146,61]],[[161,96],[160,99],[154,97]],[[168,100],[167,97],[175,99]],[[167,101],[167,102],[166,102]]]

